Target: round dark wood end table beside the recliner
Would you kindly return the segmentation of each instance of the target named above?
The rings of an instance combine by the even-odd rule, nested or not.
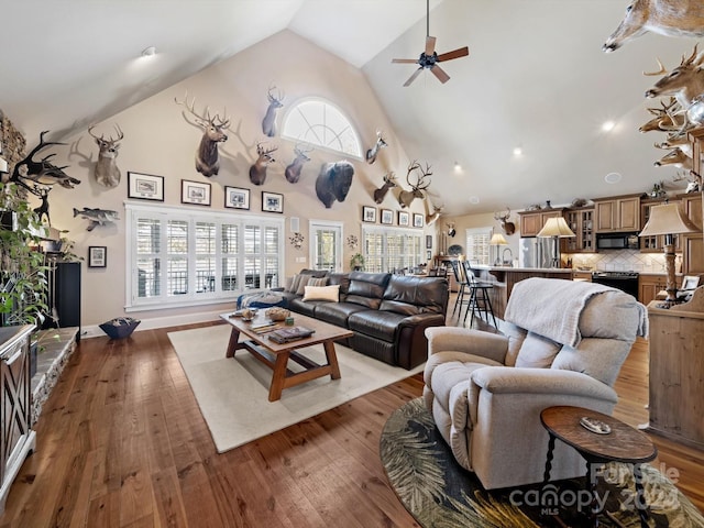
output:
[[[610,428],[607,435],[592,432],[580,424],[582,417],[588,417],[606,424]],[[641,431],[627,424],[617,420],[613,416],[597,413],[583,407],[557,406],[548,407],[540,413],[540,421],[547,429],[550,440],[548,442],[548,458],[543,481],[550,481],[552,469],[552,455],[554,440],[559,438],[568,446],[574,448],[586,461],[586,483],[592,495],[590,517],[593,526],[598,526],[596,482],[592,476],[592,464],[606,462],[623,462],[634,465],[634,480],[636,481],[636,508],[640,517],[640,526],[648,527],[648,506],[642,488],[642,473],[640,464],[650,462],[658,455],[658,449]]]

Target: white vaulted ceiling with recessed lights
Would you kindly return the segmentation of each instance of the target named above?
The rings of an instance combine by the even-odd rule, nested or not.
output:
[[[660,106],[642,70],[672,68],[695,41],[646,34],[604,54],[626,4],[431,0],[438,52],[470,56],[442,63],[444,85],[426,70],[404,88],[415,65],[391,61],[424,50],[425,0],[3,1],[0,109],[30,143],[67,135],[288,29],[362,69],[449,215],[683,188],[675,167],[653,166],[664,134],[638,132]]]

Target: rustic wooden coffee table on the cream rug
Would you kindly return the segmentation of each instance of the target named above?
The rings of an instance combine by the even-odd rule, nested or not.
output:
[[[334,342],[339,339],[352,337],[353,333],[350,330],[296,314],[295,324],[297,327],[310,328],[316,332],[310,338],[278,344],[266,337],[268,332],[257,333],[252,330],[252,326],[266,321],[263,311],[264,310],[261,310],[262,315],[252,322],[243,321],[240,317],[232,317],[232,314],[221,314],[220,318],[232,327],[230,342],[228,343],[228,351],[226,353],[227,358],[234,358],[234,353],[238,350],[244,349],[272,369],[272,384],[268,388],[270,402],[280,399],[284,388],[294,387],[327,375],[332,380],[340,378],[340,365],[338,365],[338,356],[334,352]],[[282,322],[267,330],[278,328],[286,327]],[[245,339],[240,341],[240,337],[242,336],[244,336]],[[327,363],[323,365],[306,358],[299,350],[320,343],[322,343],[326,351]],[[304,370],[299,372],[289,370],[288,360],[296,362],[302,366]]]

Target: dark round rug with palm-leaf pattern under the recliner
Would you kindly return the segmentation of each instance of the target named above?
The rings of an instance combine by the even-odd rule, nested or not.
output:
[[[381,457],[392,487],[425,528],[590,526],[576,508],[588,499],[584,479],[485,491],[454,461],[420,398],[392,414],[382,432]],[[664,475],[648,464],[641,468],[650,527],[704,527],[701,513]],[[550,495],[550,507],[540,506],[541,492]],[[608,464],[597,493],[608,512],[598,516],[600,526],[640,526],[630,466]]]

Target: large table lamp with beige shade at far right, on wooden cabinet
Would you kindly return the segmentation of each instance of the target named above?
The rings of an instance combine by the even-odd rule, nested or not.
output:
[[[692,223],[678,204],[663,204],[650,208],[650,218],[642,228],[639,237],[664,235],[664,272],[667,302],[675,302],[678,285],[674,279],[674,241],[673,235],[679,233],[696,233],[698,230]]]

